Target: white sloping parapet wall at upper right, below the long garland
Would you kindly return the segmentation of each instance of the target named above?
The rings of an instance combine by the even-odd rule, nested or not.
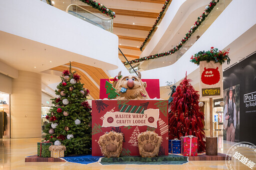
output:
[[[183,78],[186,71],[187,74],[191,73],[198,67],[189,61],[191,55],[201,50],[209,50],[211,46],[221,50],[228,48],[229,44],[255,25],[256,17],[252,17],[256,16],[255,5],[255,0],[247,0],[246,3],[232,0],[202,36],[174,64],[142,71],[143,78],[159,78],[160,86],[164,86],[166,81],[174,82],[174,79],[177,81]],[[256,34],[250,36],[255,37]],[[230,57],[232,59],[233,56]]]

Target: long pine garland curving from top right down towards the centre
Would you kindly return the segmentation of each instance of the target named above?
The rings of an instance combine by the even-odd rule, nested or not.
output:
[[[208,16],[208,14],[214,8],[214,6],[218,3],[218,1],[219,0],[211,0],[211,2],[205,7],[204,12],[200,16],[197,17],[197,20],[191,26],[191,29],[188,30],[188,32],[185,34],[185,36],[181,39],[181,41],[174,48],[172,48],[168,51],[165,51],[165,52],[156,53],[154,55],[148,55],[148,56],[144,56],[144,57],[141,57],[141,58],[133,59],[133,60],[130,60],[128,62],[125,61],[125,62],[123,62],[123,64],[128,65],[129,63],[130,64],[131,63],[137,63],[137,62],[140,62],[140,61],[159,58],[159,57],[162,57],[162,56],[166,56],[166,55],[170,55],[170,54],[175,53],[188,40],[188,38],[193,34],[193,32],[198,28],[198,26],[205,20],[205,18]]]

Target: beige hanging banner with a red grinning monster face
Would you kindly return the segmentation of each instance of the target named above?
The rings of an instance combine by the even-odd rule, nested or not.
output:
[[[222,97],[222,65],[214,61],[200,61],[200,96],[201,97]]]

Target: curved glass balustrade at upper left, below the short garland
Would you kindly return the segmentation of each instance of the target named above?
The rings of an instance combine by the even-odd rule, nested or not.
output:
[[[66,12],[109,32],[113,32],[113,19],[110,17],[106,18],[92,13],[77,4],[68,5]]]

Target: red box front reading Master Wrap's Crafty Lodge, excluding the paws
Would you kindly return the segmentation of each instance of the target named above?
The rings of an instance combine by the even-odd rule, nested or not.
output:
[[[137,135],[146,130],[162,136],[158,155],[168,155],[167,100],[92,100],[92,155],[101,156],[97,143],[106,131],[123,133],[121,156],[139,155]]]

